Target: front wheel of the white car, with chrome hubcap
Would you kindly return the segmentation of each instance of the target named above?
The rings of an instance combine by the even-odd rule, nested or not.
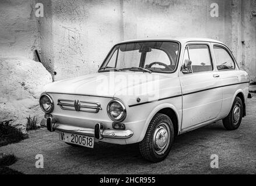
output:
[[[160,162],[169,154],[173,141],[174,128],[170,117],[157,113],[150,121],[145,137],[139,142],[139,151],[146,160]]]

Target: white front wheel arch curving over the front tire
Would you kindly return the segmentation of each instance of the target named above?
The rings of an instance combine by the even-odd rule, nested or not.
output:
[[[152,118],[157,114],[157,113],[163,113],[164,115],[167,115],[170,117],[171,122],[173,123],[174,127],[174,134],[178,135],[180,131],[180,116],[178,115],[178,110],[174,105],[171,105],[170,103],[163,103],[161,105],[156,106],[150,115],[148,116],[148,119],[146,119],[145,126],[142,130],[141,137],[139,138],[139,141],[142,141],[145,134],[146,130],[148,130],[148,126]]]

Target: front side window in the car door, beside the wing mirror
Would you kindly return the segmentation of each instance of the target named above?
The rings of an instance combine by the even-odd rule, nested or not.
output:
[[[193,73],[213,70],[208,45],[188,45],[188,55],[192,62]]]

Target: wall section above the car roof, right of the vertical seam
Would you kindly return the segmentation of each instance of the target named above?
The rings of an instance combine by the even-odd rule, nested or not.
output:
[[[211,3],[218,3],[219,17],[211,17]],[[124,0],[123,9],[124,39],[171,35],[220,40],[256,81],[256,1]]]

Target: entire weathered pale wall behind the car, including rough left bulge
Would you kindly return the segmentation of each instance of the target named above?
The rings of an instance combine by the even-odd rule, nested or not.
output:
[[[35,16],[38,2],[44,17]],[[211,17],[211,3],[219,17]],[[38,94],[50,73],[54,80],[95,73],[115,43],[157,36],[225,42],[256,81],[255,0],[1,0],[1,120],[43,116]]]

